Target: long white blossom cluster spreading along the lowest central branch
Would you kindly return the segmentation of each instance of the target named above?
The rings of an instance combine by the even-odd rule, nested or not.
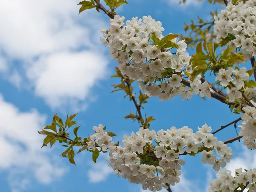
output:
[[[217,138],[209,133],[212,129],[207,124],[198,127],[195,133],[188,127],[171,127],[157,133],[140,128],[136,134],[132,132],[131,136],[124,136],[123,146],[113,145],[102,125],[93,129],[96,133],[90,136],[88,148],[95,150],[95,145],[102,151],[108,148],[110,166],[116,175],[128,179],[130,183],[141,183],[143,189],[154,192],[168,188],[166,184],[174,186],[180,181],[181,166],[185,164],[180,155],[202,152],[201,162],[212,165],[215,171],[226,166],[226,162],[229,163],[233,157],[232,149],[221,141],[217,142]],[[222,158],[217,159],[213,150]]]

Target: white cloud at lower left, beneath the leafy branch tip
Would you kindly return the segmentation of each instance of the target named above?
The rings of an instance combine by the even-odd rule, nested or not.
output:
[[[25,189],[32,178],[48,184],[61,177],[64,167],[53,163],[49,148],[41,149],[43,137],[37,131],[45,126],[46,116],[35,109],[20,112],[2,95],[0,106],[0,171],[8,170],[12,192]],[[60,162],[61,157],[56,158]]]

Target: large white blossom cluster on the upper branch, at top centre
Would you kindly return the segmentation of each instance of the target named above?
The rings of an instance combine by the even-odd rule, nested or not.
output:
[[[102,28],[104,38],[101,38],[103,44],[109,46],[111,59],[116,59],[122,74],[138,80],[140,88],[146,90],[145,94],[160,100],[173,99],[177,95],[183,100],[191,99],[201,88],[204,89],[201,96],[210,97],[209,85],[201,85],[201,76],[190,81],[191,87],[185,88],[181,84],[183,71],[192,72],[191,57],[184,41],[175,36],[170,38],[172,34],[163,38],[162,23],[151,16],[143,16],[143,20],[132,18],[126,21],[126,26],[123,26],[124,19],[119,15],[110,19],[110,28]],[[160,44],[162,40],[164,43]]]

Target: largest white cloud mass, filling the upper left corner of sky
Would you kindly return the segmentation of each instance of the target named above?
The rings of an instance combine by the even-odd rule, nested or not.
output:
[[[78,2],[44,0],[40,6],[35,0],[0,2],[0,26],[4,26],[0,52],[6,55],[0,58],[0,70],[6,68],[6,58],[18,61],[11,62],[12,70],[4,79],[16,87],[32,86],[54,110],[85,110],[91,88],[108,74],[107,49],[99,41],[106,23],[96,10],[78,15]],[[17,66],[19,73],[13,72]]]

